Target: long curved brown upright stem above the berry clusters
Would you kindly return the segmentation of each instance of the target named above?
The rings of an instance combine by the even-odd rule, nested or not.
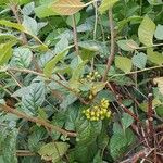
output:
[[[114,60],[114,53],[115,53],[115,40],[114,40],[114,25],[113,25],[113,12],[112,12],[112,8],[109,10],[109,23],[110,23],[110,30],[111,30],[111,52],[110,55],[108,58],[108,63],[106,63],[106,68],[104,72],[104,75],[102,77],[102,80],[105,82],[106,77],[108,77],[108,73],[109,70],[112,65],[112,62]]]

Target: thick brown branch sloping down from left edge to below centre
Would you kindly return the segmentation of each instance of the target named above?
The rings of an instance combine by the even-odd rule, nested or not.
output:
[[[29,115],[26,115],[25,113],[23,112],[20,112],[17,111],[16,109],[13,109],[13,108],[10,108],[8,105],[4,105],[4,104],[0,104],[0,108],[1,110],[3,110],[4,112],[9,112],[9,113],[12,113],[21,118],[24,118],[26,121],[29,121],[29,122],[34,122],[36,124],[40,124],[41,126],[45,126],[46,128],[49,128],[49,129],[52,129],[52,130],[55,130],[58,133],[61,133],[65,136],[70,136],[70,137],[76,137],[76,133],[71,133],[71,131],[67,131],[65,129],[62,129],[58,126],[54,126],[50,123],[48,123],[47,121],[45,120],[41,120],[41,118],[38,118],[38,117],[33,117],[33,116],[29,116]]]

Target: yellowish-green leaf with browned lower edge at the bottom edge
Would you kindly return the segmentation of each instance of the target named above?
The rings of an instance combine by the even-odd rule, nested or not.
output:
[[[38,153],[45,161],[52,161],[52,163],[57,163],[66,153],[68,147],[70,146],[66,142],[49,142],[42,146]]]

